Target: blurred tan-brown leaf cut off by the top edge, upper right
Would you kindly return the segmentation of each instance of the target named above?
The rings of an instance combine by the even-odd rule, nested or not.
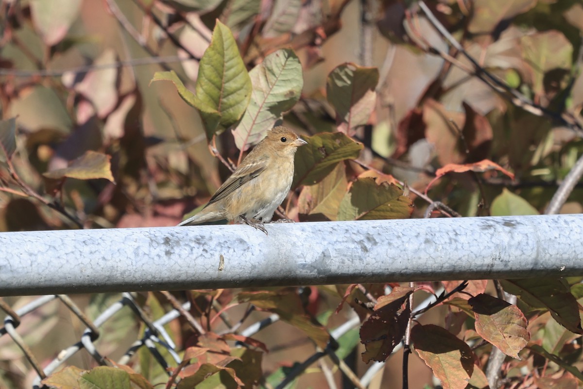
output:
[[[473,34],[489,34],[498,23],[532,9],[536,0],[476,0],[473,3],[472,18],[468,30]]]

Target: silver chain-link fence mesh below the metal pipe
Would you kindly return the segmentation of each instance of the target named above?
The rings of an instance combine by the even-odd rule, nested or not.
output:
[[[438,293],[440,293],[440,291],[437,291],[437,294]],[[31,351],[30,345],[26,344],[23,337],[17,330],[19,325],[22,323],[23,317],[33,314],[35,311],[45,306],[45,304],[51,303],[54,300],[59,300],[59,302],[64,304],[64,306],[69,311],[71,311],[71,313],[75,315],[81,321],[81,323],[86,326],[86,328],[78,342],[75,342],[60,352],[55,351],[57,357],[43,367],[38,362],[34,353]],[[434,300],[434,298],[430,297],[429,299],[420,303],[416,309],[422,309],[423,307],[426,307],[428,304],[430,304],[431,300]],[[82,350],[85,350],[86,353],[89,354],[99,365],[108,365],[106,358],[104,358],[104,356],[101,355],[101,353],[98,351],[95,342],[101,336],[100,327],[107,323],[107,321],[114,318],[115,315],[126,306],[132,310],[136,320],[141,321],[145,325],[146,329],[143,336],[139,339],[136,339],[136,341],[127,349],[127,351],[125,351],[124,355],[118,360],[118,363],[121,365],[127,365],[140,348],[146,347],[147,350],[152,354],[153,359],[162,367],[165,372],[167,372],[168,376],[170,376],[171,373],[168,367],[170,367],[173,363],[178,365],[182,359],[179,355],[180,350],[177,348],[177,345],[174,344],[170,334],[164,330],[164,325],[170,323],[173,320],[176,320],[180,316],[184,316],[184,313],[187,312],[191,307],[189,302],[181,304],[180,309],[172,309],[157,320],[150,321],[139,304],[136,303],[135,293],[122,293],[120,300],[108,306],[105,310],[103,310],[103,312],[101,312],[101,314],[99,314],[99,316],[97,316],[92,321],[67,295],[40,296],[16,310],[13,310],[9,304],[0,298],[0,309],[6,313],[4,326],[0,328],[0,338],[4,336],[10,337],[10,339],[15,342],[20,350],[22,350],[24,357],[29,361],[30,365],[37,373],[37,377],[33,381],[32,388],[40,389],[43,387],[41,380],[56,372],[59,367],[64,365],[69,359],[72,358],[73,355]],[[272,314],[271,316],[266,317],[261,321],[252,323],[240,333],[244,337],[252,337],[253,335],[257,334],[257,332],[278,321],[279,316],[277,314]],[[328,342],[328,346],[326,346],[325,349],[317,348],[311,356],[304,360],[304,362],[299,363],[294,367],[293,370],[287,373],[286,377],[278,386],[276,386],[276,388],[286,387],[287,384],[293,382],[298,376],[300,376],[300,374],[304,373],[310,365],[317,362],[324,356],[329,356],[332,362],[339,367],[339,370],[345,374],[345,376],[347,376],[350,381],[352,381],[355,387],[366,388],[371,383],[373,377],[378,372],[380,372],[380,370],[382,370],[382,368],[385,366],[385,363],[373,363],[367,372],[365,372],[359,379],[356,373],[350,370],[342,359],[338,358],[338,356],[335,354],[334,347],[332,346],[338,341],[340,337],[342,337],[342,335],[345,335],[348,331],[358,327],[359,325],[360,319],[355,314],[345,323],[335,328],[335,330],[330,331],[330,341]],[[231,328],[231,330],[232,329],[233,328]],[[171,361],[165,359],[156,346],[161,346],[162,348],[166,349],[168,352],[166,358],[171,359]],[[400,346],[396,347],[394,352],[398,351],[400,348]]]

